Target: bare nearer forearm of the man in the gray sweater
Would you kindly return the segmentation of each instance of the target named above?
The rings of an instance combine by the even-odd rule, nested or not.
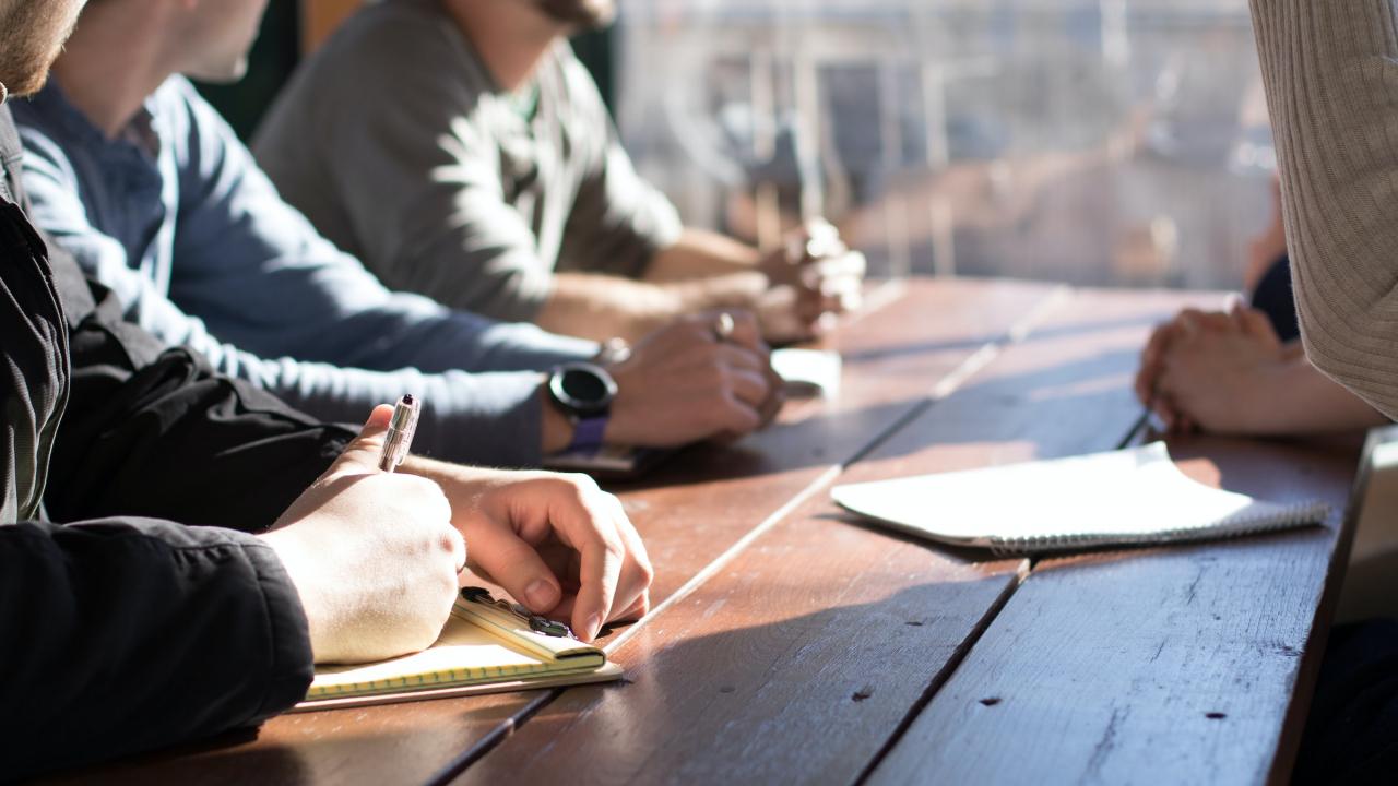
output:
[[[538,315],[538,326],[594,341],[639,341],[685,313],[726,306],[751,309],[765,290],[766,277],[756,271],[671,284],[559,273]]]

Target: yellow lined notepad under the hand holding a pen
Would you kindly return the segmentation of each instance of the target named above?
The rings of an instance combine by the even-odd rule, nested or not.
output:
[[[296,709],[601,683],[621,674],[601,649],[538,632],[509,604],[467,589],[431,648],[377,663],[319,666]]]

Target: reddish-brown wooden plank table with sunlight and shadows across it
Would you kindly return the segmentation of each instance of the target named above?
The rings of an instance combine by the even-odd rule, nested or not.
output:
[[[1194,477],[1324,527],[1044,561],[906,540],[833,483],[1113,449],[1151,326],[1219,295],[913,281],[829,340],[836,401],[618,488],[658,571],[626,681],[278,717],[66,780],[1285,780],[1349,536],[1355,448],[1190,439]]]

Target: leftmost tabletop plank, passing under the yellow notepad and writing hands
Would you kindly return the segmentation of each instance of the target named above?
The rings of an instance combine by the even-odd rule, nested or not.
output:
[[[686,450],[644,485],[618,488],[657,568],[664,601],[837,463],[925,401],[969,357],[1002,340],[1053,287],[914,281],[829,338],[846,355],[837,401],[797,403],[727,446]],[[96,768],[69,782],[424,782],[510,731],[552,694],[534,691],[277,717],[256,738]]]

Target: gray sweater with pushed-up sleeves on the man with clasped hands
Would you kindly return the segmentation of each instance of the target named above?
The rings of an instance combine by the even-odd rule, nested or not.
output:
[[[533,322],[554,270],[636,277],[681,231],[566,43],[510,94],[436,0],[345,22],[253,152],[384,284],[502,320]]]

